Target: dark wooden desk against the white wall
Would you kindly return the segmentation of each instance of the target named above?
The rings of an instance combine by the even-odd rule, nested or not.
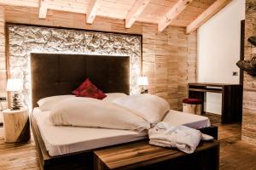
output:
[[[224,83],[189,83],[189,98],[205,100],[205,93],[222,94],[222,123],[241,122],[242,86]],[[204,111],[204,106],[202,108]]]

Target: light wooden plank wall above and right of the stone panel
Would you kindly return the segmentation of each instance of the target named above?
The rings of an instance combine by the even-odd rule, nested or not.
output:
[[[38,8],[5,8],[7,22],[43,26],[62,26],[98,31],[117,31],[143,35],[143,75],[148,76],[149,93],[168,100],[172,109],[181,109],[187,83],[195,82],[196,32],[185,35],[184,28],[168,27],[158,32],[157,25],[136,22],[125,29],[124,20],[96,17],[85,24],[85,14],[49,10],[46,20],[38,20]],[[2,62],[2,61],[1,61]],[[1,93],[5,93],[3,89]]]

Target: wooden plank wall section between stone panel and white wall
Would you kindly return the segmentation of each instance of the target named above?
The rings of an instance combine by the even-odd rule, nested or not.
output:
[[[188,82],[196,77],[196,33],[143,24],[143,74],[149,79],[149,92],[168,99],[173,109],[182,109]]]

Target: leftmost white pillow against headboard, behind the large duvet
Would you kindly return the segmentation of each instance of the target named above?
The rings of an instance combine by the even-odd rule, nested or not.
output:
[[[52,110],[56,104],[61,102],[63,99],[75,98],[75,95],[56,95],[50,96],[47,98],[39,99],[38,105],[41,111],[50,111]]]

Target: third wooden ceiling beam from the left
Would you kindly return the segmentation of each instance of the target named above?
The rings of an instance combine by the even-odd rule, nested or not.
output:
[[[137,17],[143,13],[144,8],[148,6],[150,0],[137,0],[130,10],[125,19],[125,28],[131,28]]]

